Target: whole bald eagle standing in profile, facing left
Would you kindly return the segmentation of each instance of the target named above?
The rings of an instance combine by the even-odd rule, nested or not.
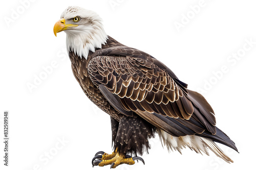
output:
[[[114,152],[97,152],[98,166],[134,164],[144,160],[148,140],[157,133],[168,150],[208,150],[233,162],[215,142],[237,150],[216,127],[214,110],[205,98],[180,81],[151,55],[108,36],[93,11],[68,7],[55,23],[54,34],[65,31],[75,79],[83,92],[111,118]],[[134,155],[134,157],[132,157]]]

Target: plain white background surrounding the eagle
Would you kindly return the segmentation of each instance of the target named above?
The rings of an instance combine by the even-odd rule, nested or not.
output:
[[[70,5],[96,11],[104,20],[108,35],[162,61],[189,89],[204,89],[203,95],[215,110],[217,126],[236,142],[240,152],[219,144],[233,159],[231,164],[213,153],[202,156],[189,149],[184,149],[182,155],[168,153],[156,136],[150,140],[150,154],[142,156],[145,165],[136,162],[118,169],[254,167],[254,1],[205,0],[197,13],[190,6],[200,4],[199,0],[31,0],[22,5],[24,1],[0,3],[2,139],[4,111],[10,114],[9,166],[3,165],[1,139],[0,169],[110,168],[91,165],[96,152],[112,153],[110,117],[87,99],[73,77],[65,33],[58,33],[57,37],[53,34],[54,23]],[[16,17],[15,12],[19,12]],[[188,20],[184,19],[187,14]],[[12,20],[7,22],[7,18]],[[183,24],[179,30],[175,27],[177,22]],[[249,47],[246,39],[254,44],[245,52],[244,45]],[[229,58],[238,52],[242,57]],[[51,70],[52,62],[55,68]],[[221,74],[223,66],[226,69]],[[49,74],[44,75],[44,67],[49,68]],[[219,73],[217,77],[214,72]],[[34,84],[40,75],[45,79],[29,89],[28,84]],[[64,144],[59,143],[62,139]]]

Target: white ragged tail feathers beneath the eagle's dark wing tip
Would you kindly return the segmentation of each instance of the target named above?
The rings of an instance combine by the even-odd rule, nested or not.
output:
[[[181,149],[188,147],[197,153],[202,154],[203,152],[206,155],[209,155],[207,149],[210,149],[218,157],[222,158],[226,162],[233,162],[211,139],[195,135],[175,137],[160,129],[157,129],[157,132],[159,134],[162,145],[166,145],[168,151],[175,150],[181,153]]]

